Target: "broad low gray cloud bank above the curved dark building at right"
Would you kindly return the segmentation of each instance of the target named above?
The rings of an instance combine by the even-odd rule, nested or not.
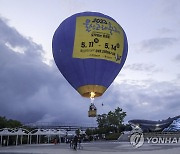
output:
[[[169,82],[153,82],[149,86],[120,84],[111,87],[107,96],[112,106],[120,106],[130,119],[165,119],[179,115],[180,87]]]

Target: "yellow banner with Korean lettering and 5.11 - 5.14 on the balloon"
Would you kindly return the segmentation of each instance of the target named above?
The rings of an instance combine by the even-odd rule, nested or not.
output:
[[[103,17],[77,17],[73,58],[104,59],[120,64],[123,50],[124,33],[118,23]]]

